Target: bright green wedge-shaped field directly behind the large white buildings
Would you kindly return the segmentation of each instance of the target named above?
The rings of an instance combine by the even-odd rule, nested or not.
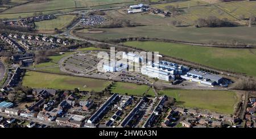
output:
[[[124,44],[217,69],[256,76],[256,49],[198,47],[154,41],[129,41]]]

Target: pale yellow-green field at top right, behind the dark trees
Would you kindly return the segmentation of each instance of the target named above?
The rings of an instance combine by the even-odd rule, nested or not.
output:
[[[232,1],[232,2],[217,2],[213,5],[204,1],[180,1],[153,5],[153,7],[168,10],[166,6],[174,6],[184,10],[175,18],[193,24],[197,18],[207,18],[208,16],[216,16],[217,18],[227,18],[231,21],[237,21],[240,15],[245,15],[248,18],[256,14],[255,1]]]

